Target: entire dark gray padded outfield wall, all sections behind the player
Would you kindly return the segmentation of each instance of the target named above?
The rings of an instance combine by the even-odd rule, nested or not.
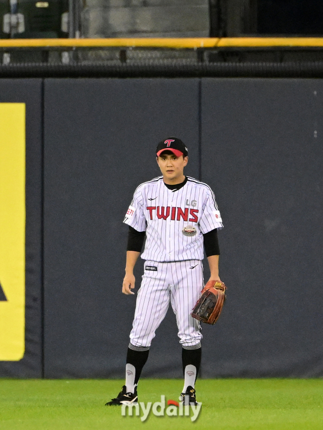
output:
[[[202,377],[323,375],[321,80],[0,85],[27,110],[26,353],[1,375],[123,377],[135,297],[121,293],[122,221],[167,135],[187,143],[187,175],[212,187],[225,225],[228,300],[203,326]],[[143,376],[181,377],[180,353],[170,311]]]

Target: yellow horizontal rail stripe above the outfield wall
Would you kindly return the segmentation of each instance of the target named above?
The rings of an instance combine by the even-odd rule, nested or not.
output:
[[[111,39],[0,39],[0,48],[13,47],[319,47],[323,37],[205,37],[205,38],[111,38]]]

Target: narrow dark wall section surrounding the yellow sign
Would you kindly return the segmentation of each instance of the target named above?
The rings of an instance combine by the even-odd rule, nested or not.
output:
[[[0,377],[41,378],[42,81],[1,79],[0,103],[26,104],[26,305],[25,353],[0,361]],[[1,143],[0,143],[1,144]],[[1,336],[1,334],[0,334]]]

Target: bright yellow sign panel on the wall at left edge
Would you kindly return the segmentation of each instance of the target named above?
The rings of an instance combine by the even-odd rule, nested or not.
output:
[[[0,361],[25,352],[25,104],[0,103]]]

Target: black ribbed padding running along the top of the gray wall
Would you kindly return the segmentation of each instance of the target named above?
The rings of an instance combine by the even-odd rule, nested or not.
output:
[[[261,54],[261,52],[260,52]],[[306,52],[312,60],[281,62],[273,52],[265,53],[267,61],[249,61],[241,51],[208,52],[201,50],[203,61],[138,61],[132,63],[96,62],[88,64],[26,63],[0,65],[0,78],[202,78],[202,77],[253,77],[253,78],[323,78],[321,50]],[[305,57],[305,54],[304,54]],[[204,62],[207,60],[207,62]],[[241,59],[241,60],[240,60]]]

